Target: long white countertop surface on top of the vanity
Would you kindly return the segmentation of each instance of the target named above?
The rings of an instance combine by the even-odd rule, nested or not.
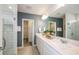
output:
[[[63,54],[63,55],[79,54],[79,46],[73,43],[75,40],[68,39],[67,40],[68,43],[62,43],[60,39],[65,39],[65,38],[53,37],[53,39],[47,39],[42,34],[37,33],[36,35],[39,36],[42,40],[44,40],[46,43],[48,43],[55,50],[57,50],[60,54]]]

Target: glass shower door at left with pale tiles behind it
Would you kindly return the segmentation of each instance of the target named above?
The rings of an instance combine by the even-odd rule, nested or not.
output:
[[[6,46],[3,50],[3,55],[15,54],[14,24],[12,17],[7,17],[3,19],[3,38],[6,41]]]

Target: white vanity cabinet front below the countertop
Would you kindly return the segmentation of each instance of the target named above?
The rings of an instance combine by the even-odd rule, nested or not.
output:
[[[36,36],[36,45],[40,55],[57,55],[59,54],[53,47],[51,47],[47,42]]]

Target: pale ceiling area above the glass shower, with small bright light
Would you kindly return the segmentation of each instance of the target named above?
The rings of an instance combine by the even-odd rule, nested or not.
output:
[[[11,7],[11,9],[9,7]],[[0,12],[5,13],[5,14],[16,14],[17,7],[15,4],[1,4]]]

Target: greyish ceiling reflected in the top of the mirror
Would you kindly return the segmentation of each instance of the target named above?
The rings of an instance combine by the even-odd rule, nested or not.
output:
[[[54,11],[53,17],[62,17],[66,13],[79,14],[79,4],[67,4]]]

